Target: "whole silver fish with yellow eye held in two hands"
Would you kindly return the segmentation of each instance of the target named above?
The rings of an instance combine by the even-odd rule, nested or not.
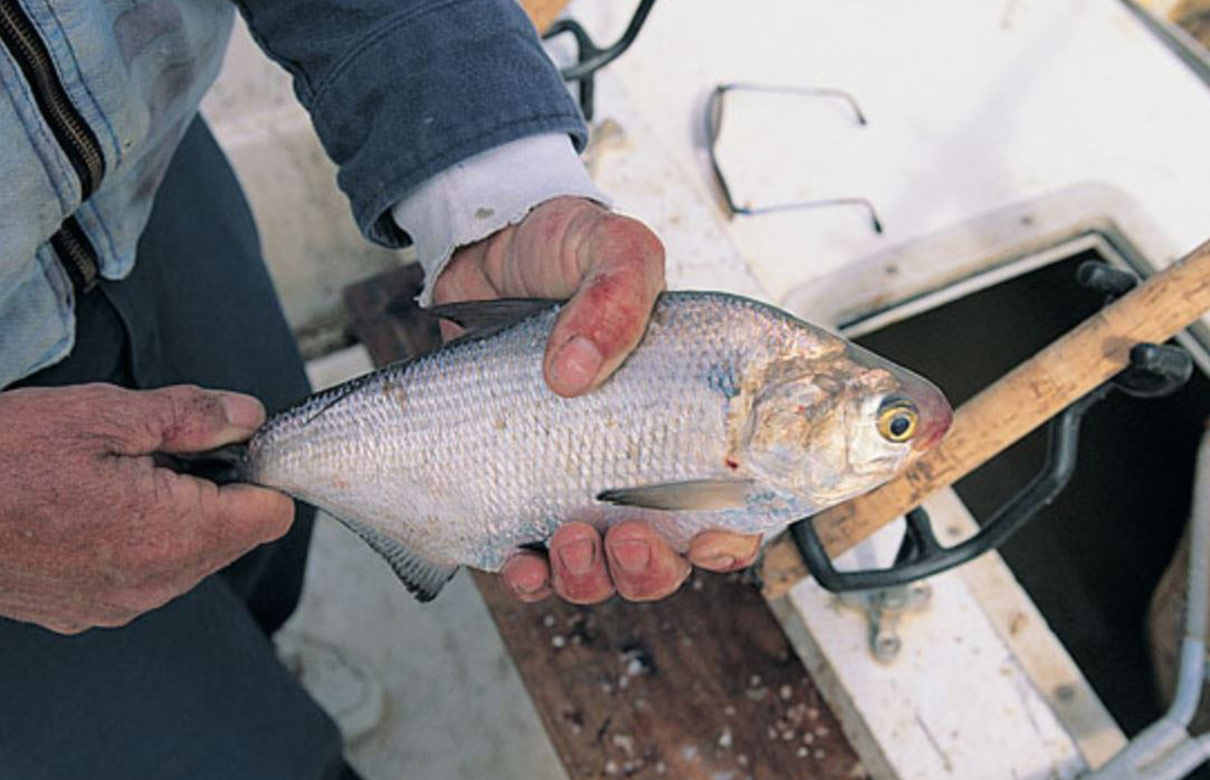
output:
[[[559,304],[434,311],[471,335],[273,416],[242,464],[421,600],[569,520],[645,519],[682,551],[713,527],[768,538],[887,481],[951,420],[926,380],[736,295],[664,293],[617,372],[570,399],[542,377]]]

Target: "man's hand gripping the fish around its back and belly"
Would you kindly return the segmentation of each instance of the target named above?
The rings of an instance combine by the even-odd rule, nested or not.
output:
[[[570,299],[546,346],[551,389],[580,395],[600,385],[643,337],[664,285],[664,249],[645,225],[592,201],[555,198],[518,225],[463,247],[438,277],[439,304],[495,297]],[[449,335],[449,334],[446,334]],[[690,562],[713,571],[743,568],[756,557],[759,537],[705,531],[688,560],[650,526],[622,522],[603,539],[571,522],[551,539],[549,556],[519,553],[502,572],[523,601],[551,589],[575,603],[609,599],[663,599],[690,573]]]

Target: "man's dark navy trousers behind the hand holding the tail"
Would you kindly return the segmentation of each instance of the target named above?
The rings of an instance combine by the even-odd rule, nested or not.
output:
[[[307,393],[238,184],[198,120],[156,195],[129,278],[79,301],[77,343],[23,385],[194,382],[270,410]],[[0,778],[353,776],[340,734],[269,636],[298,603],[313,512],[120,629],[0,618]]]

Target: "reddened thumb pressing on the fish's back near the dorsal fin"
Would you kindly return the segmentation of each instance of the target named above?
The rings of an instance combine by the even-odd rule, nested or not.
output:
[[[547,342],[547,383],[578,395],[605,380],[643,337],[664,284],[664,249],[645,225],[601,215],[576,245],[583,281]]]

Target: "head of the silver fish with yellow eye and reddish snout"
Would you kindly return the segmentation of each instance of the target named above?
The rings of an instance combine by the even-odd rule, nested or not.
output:
[[[757,480],[822,509],[893,478],[940,441],[952,420],[932,382],[846,343],[768,371],[743,447]]]

